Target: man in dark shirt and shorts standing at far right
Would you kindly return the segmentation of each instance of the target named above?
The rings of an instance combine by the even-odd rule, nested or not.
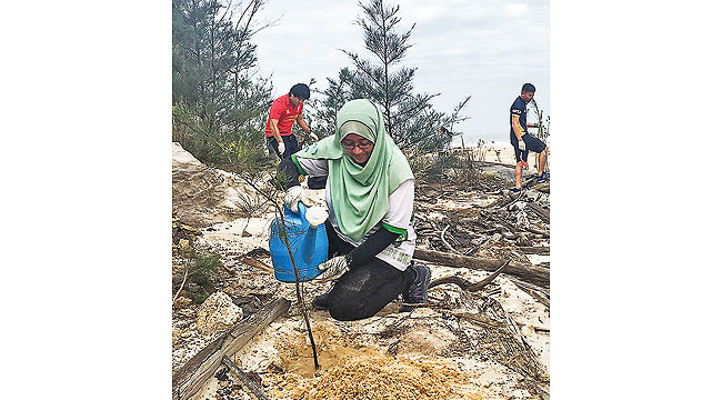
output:
[[[509,123],[511,124],[511,131],[509,137],[511,144],[514,147],[514,156],[517,157],[517,168],[514,169],[515,184],[512,193],[519,193],[522,189],[521,172],[522,168],[527,167],[529,150],[539,153],[539,176],[537,181],[542,182],[549,179],[549,173],[544,172],[544,166],[546,164],[546,144],[527,132],[527,128],[539,127],[537,123],[527,123],[527,103],[534,98],[535,91],[537,88],[533,84],[524,83],[521,87],[521,94],[514,100],[510,109]]]

